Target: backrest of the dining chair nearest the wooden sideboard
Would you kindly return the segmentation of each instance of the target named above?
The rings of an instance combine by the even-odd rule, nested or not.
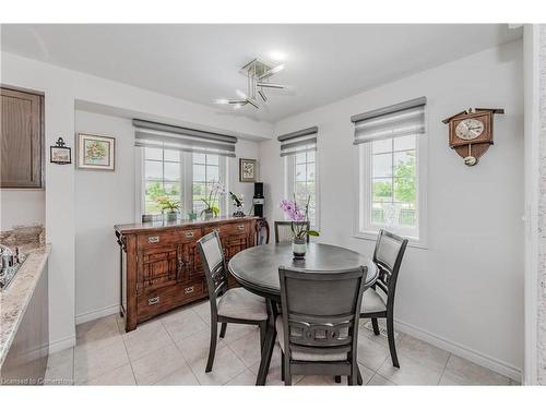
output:
[[[224,251],[216,230],[198,240],[199,254],[209,287],[211,308],[216,309],[216,298],[227,291],[226,263]]]

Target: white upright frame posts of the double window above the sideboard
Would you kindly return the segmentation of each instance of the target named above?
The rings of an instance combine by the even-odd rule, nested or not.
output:
[[[144,180],[144,147],[138,148],[134,155],[135,163],[135,206],[134,206],[134,219],[140,221],[142,219],[142,215],[145,210],[145,195],[146,195],[146,184]],[[211,154],[214,155],[214,154]],[[180,218],[186,219],[188,212],[191,209],[193,212],[193,158],[191,152],[180,152],[180,204],[182,208],[180,210]],[[228,160],[224,155],[218,155],[218,166],[219,166],[219,182],[226,187],[226,190],[229,191],[228,187]],[[219,197],[219,210],[221,216],[225,216],[229,210],[229,201],[227,195],[225,197]]]

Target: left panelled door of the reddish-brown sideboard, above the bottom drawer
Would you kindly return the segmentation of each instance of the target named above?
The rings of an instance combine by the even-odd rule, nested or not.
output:
[[[176,284],[180,265],[181,254],[178,245],[140,250],[136,291],[142,293]]]

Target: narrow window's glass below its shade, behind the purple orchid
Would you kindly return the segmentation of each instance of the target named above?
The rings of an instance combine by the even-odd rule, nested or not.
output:
[[[286,156],[287,160],[287,192],[288,199],[296,197],[296,203],[304,206],[309,199],[309,221],[318,227],[317,194],[316,194],[316,153],[304,152]]]

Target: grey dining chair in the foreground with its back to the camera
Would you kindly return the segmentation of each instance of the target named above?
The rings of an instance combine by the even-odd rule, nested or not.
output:
[[[356,385],[358,315],[366,267],[340,272],[278,268],[275,321],[285,385],[293,375],[347,376]]]

